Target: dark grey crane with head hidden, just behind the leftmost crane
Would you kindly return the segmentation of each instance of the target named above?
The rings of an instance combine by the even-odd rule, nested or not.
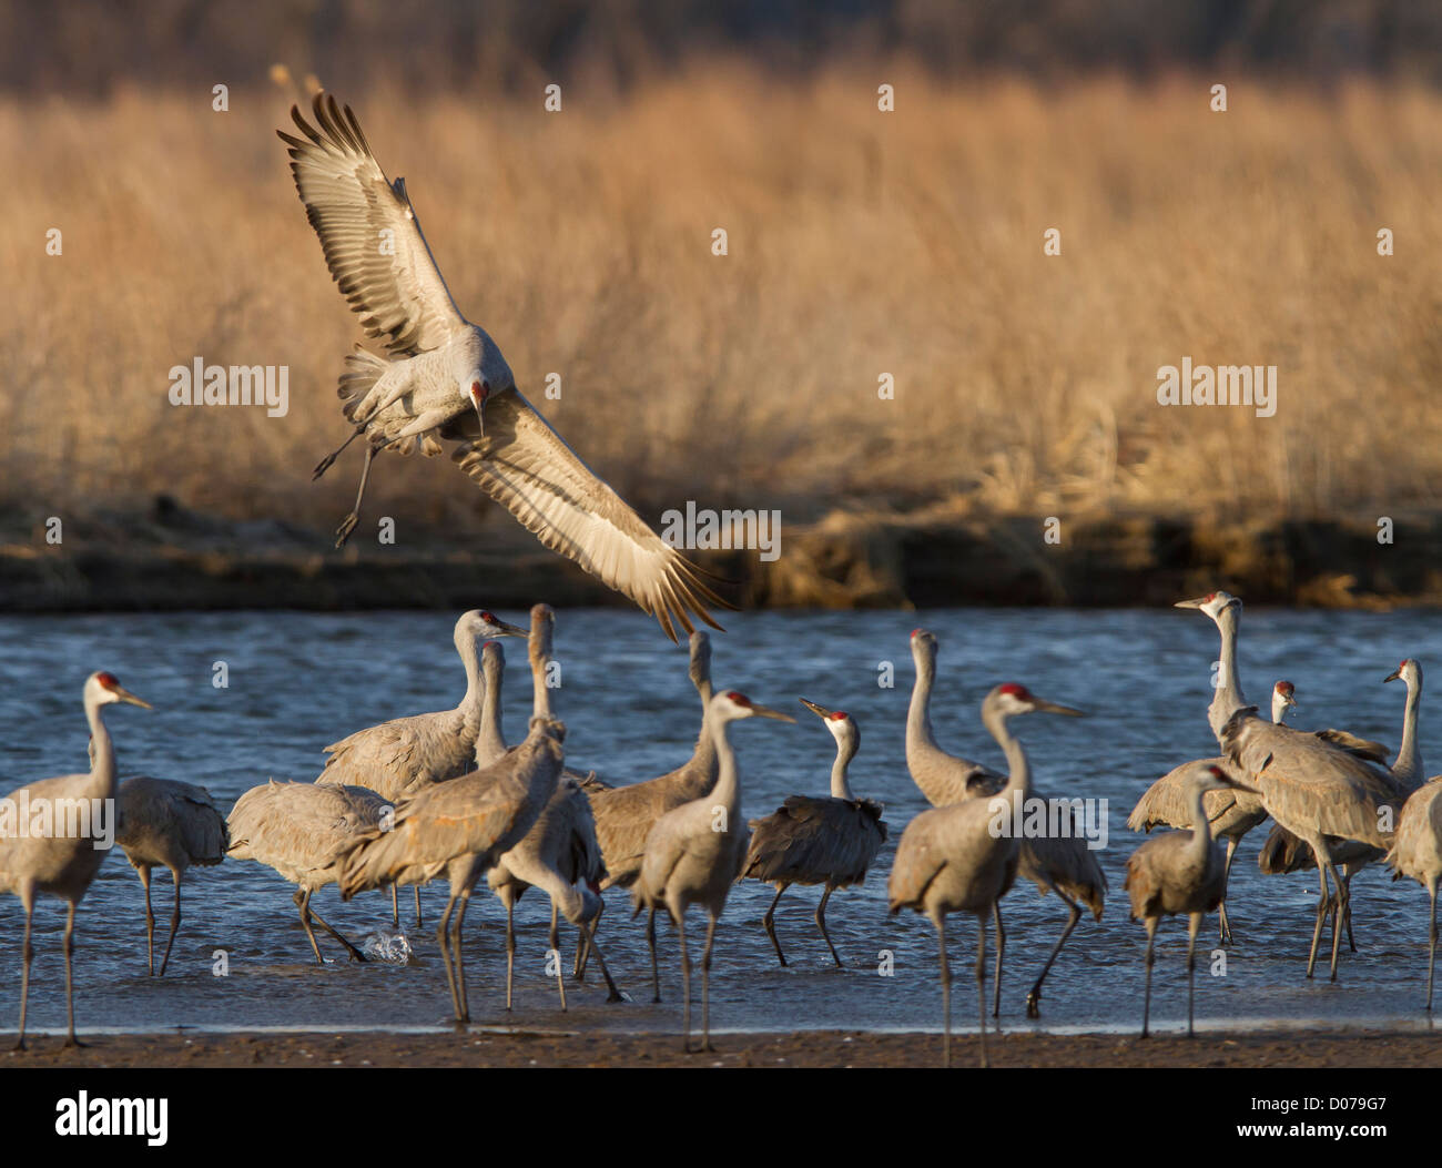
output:
[[[160,959],[160,976],[170,963],[170,946],[180,927],[180,881],[192,864],[211,867],[225,859],[231,839],[211,792],[174,779],[137,774],[120,784],[120,829],[115,842],[146,890],[146,963],[156,972],[156,914],[150,908],[150,870],[170,870],[176,903],[170,913],[170,936]]]

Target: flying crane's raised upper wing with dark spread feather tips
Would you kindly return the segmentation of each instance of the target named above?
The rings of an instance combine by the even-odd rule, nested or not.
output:
[[[405,180],[386,180],[349,105],[316,94],[313,112],[319,128],[290,110],[306,140],[275,133],[290,147],[296,189],[330,274],[391,356],[435,349],[467,322],[435,267]]]

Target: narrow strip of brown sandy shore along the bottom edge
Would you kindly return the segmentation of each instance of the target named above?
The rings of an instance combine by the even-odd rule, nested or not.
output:
[[[0,1035],[9,1048],[13,1034]],[[715,1053],[682,1054],[679,1035],[525,1032],[392,1034],[121,1034],[65,1050],[58,1035],[33,1035],[26,1053],[0,1056],[17,1067],[933,1067],[936,1034],[812,1031],[722,1034]],[[953,1038],[956,1066],[975,1066],[976,1037]],[[1442,1034],[1269,1031],[1152,1037],[1001,1034],[998,1067],[1442,1067]]]

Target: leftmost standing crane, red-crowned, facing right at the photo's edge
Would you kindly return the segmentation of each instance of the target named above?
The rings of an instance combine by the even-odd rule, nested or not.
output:
[[[63,774],[58,779],[40,779],[9,792],[0,808],[0,890],[14,893],[25,906],[25,939],[20,943],[20,1035],[16,1050],[25,1050],[25,1008],[30,996],[30,962],[35,947],[30,944],[30,923],[35,917],[35,897],[46,893],[61,897],[69,904],[65,914],[65,1045],[84,1045],[75,1038],[75,994],[71,978],[71,955],[75,949],[75,906],[81,903],[95,872],[110,854],[102,846],[101,825],[92,815],[107,815],[114,808],[115,750],[105,728],[99,708],[112,702],[128,702],[150,709],[128,689],[123,688],[114,673],[91,673],[81,691],[85,701],[85,720],[91,731],[89,774]],[[14,808],[29,809],[23,825],[14,822]],[[33,825],[40,815],[49,822],[49,829],[33,833]]]

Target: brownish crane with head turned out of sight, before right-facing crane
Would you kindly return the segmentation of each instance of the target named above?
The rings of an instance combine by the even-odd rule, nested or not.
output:
[[[394,823],[363,832],[337,865],[346,900],[384,884],[424,884],[446,872],[450,900],[435,940],[446,962],[457,1024],[470,1021],[461,921],[472,890],[497,858],[525,838],[555,793],[565,757],[564,738],[561,722],[532,718],[531,733],[519,747],[489,767],[402,800]]]

